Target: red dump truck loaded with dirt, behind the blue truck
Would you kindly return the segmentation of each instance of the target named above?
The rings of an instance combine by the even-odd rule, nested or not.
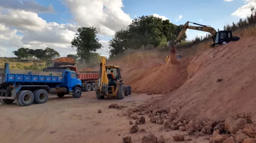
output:
[[[69,69],[71,71],[77,72],[77,78],[80,79],[83,83],[82,91],[95,91],[97,85],[95,80],[100,78],[99,71],[78,71],[77,67],[74,65],[69,65],[70,63],[59,63],[55,62],[52,68],[60,68],[60,69]]]

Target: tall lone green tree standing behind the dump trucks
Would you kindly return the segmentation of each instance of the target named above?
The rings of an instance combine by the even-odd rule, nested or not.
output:
[[[100,30],[95,27],[78,28],[75,37],[71,41],[71,47],[77,49],[77,55],[83,59],[83,64],[89,60],[91,53],[101,49],[102,45],[97,38]]]

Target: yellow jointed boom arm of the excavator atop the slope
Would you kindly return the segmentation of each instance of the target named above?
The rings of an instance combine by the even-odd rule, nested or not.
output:
[[[198,26],[189,26],[189,23],[192,23],[192,24],[195,24],[195,25],[198,25]],[[193,30],[198,30],[198,31],[204,31],[204,32],[211,33],[213,41],[215,41],[215,35],[216,35],[217,31],[214,28],[212,28],[210,26],[194,23],[194,22],[186,22],[184,24],[184,26],[179,30],[179,35],[178,35],[178,37],[176,38],[176,40],[173,44],[177,44],[177,42],[185,34],[187,29],[193,29]]]

